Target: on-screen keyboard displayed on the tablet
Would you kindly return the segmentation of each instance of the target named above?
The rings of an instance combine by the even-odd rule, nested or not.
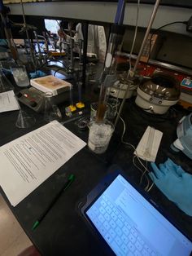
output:
[[[103,195],[93,207],[90,213],[88,210],[89,217],[116,255],[159,255],[137,231],[133,221],[128,220],[124,212],[113,205],[107,196]]]

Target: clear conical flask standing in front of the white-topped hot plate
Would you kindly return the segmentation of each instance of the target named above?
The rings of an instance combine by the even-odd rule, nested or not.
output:
[[[62,114],[57,105],[53,103],[52,92],[45,93],[45,110],[44,110],[44,119],[46,121],[61,121]]]

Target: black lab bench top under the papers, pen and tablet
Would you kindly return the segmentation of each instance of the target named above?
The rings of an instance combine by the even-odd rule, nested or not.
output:
[[[31,129],[18,129],[15,127],[18,112],[1,113],[0,145],[46,124],[41,121],[41,114],[33,113],[29,108],[25,108],[25,110],[37,118],[36,126]],[[183,109],[174,106],[164,115],[151,115],[138,108],[134,104],[134,99],[129,99],[124,106],[122,114],[126,123],[124,141],[137,146],[146,127],[153,126],[155,129],[164,132],[156,162],[164,162],[170,157],[178,165],[181,165],[184,170],[192,173],[191,160],[185,157],[182,152],[173,154],[170,151],[170,144],[177,139],[177,122],[184,114]],[[88,130],[79,130],[76,121],[69,121],[65,126],[81,139],[87,141]],[[145,179],[143,179],[142,184],[139,184],[142,173],[133,166],[133,148],[120,143],[122,132],[123,125],[119,121],[105,154],[101,156],[95,155],[86,146],[15,207],[10,205],[7,197],[1,191],[2,196],[7,201],[13,214],[15,214],[21,227],[23,227],[24,232],[26,232],[33,245],[37,247],[42,255],[104,255],[101,244],[89,230],[84,218],[81,216],[81,203],[84,201],[85,196],[107,174],[108,167],[113,164],[120,166],[137,186],[142,189],[146,186]],[[69,174],[75,174],[75,181],[59,197],[59,200],[37,229],[32,231],[34,221],[41,215],[46,205],[49,204],[52,196],[58,192],[59,188],[62,188]],[[149,193],[153,201],[167,212],[183,232],[192,238],[192,218],[179,210],[155,186]]]

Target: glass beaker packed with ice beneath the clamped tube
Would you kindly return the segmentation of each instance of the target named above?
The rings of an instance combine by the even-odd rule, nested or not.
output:
[[[115,127],[111,121],[91,121],[89,123],[88,147],[96,154],[106,152]]]

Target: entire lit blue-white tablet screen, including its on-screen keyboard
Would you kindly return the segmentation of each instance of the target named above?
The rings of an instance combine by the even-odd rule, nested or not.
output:
[[[119,174],[85,214],[116,255],[190,255],[192,243]]]

